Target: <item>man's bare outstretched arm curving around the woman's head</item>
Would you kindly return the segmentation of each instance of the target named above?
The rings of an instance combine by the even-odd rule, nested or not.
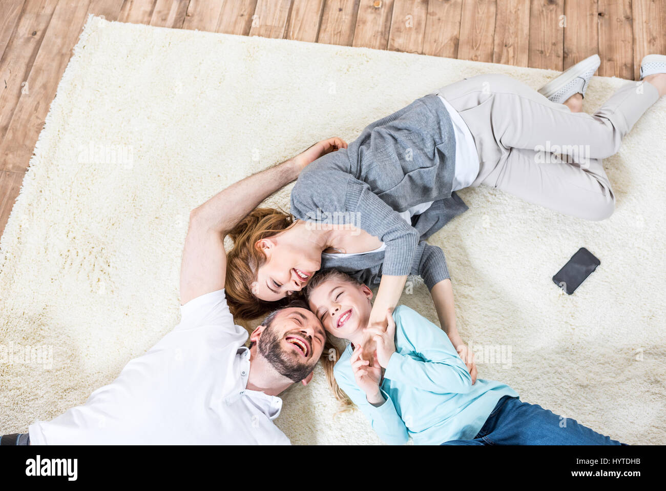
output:
[[[306,165],[346,147],[340,138],[322,140],[296,157],[230,185],[194,208],[180,264],[180,303],[224,288],[224,236],[240,220],[266,197],[294,181]]]

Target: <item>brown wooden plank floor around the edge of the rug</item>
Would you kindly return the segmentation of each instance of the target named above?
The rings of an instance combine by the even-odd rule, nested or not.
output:
[[[557,70],[599,53],[627,79],[666,54],[666,0],[1,0],[0,233],[89,13]]]

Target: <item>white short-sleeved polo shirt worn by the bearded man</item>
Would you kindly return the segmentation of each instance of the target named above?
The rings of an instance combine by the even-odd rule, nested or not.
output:
[[[42,444],[289,444],[282,399],[246,389],[248,333],[224,290],[180,308],[180,324],[83,406],[29,428]]]

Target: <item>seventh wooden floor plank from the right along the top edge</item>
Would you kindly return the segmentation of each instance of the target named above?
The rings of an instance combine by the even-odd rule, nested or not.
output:
[[[462,0],[430,0],[423,54],[458,58]]]

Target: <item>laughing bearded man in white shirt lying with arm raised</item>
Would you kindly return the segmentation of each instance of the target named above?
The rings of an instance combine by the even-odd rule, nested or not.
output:
[[[310,382],[326,332],[307,304],[292,302],[270,314],[246,347],[248,333],[234,325],[224,296],[224,235],[262,201],[262,189],[296,179],[336,148],[332,140],[194,209],[180,266],[180,324],[85,404],[35,422],[27,434],[4,435],[0,444],[288,444],[273,423],[278,394]],[[245,199],[230,207],[234,195]]]

